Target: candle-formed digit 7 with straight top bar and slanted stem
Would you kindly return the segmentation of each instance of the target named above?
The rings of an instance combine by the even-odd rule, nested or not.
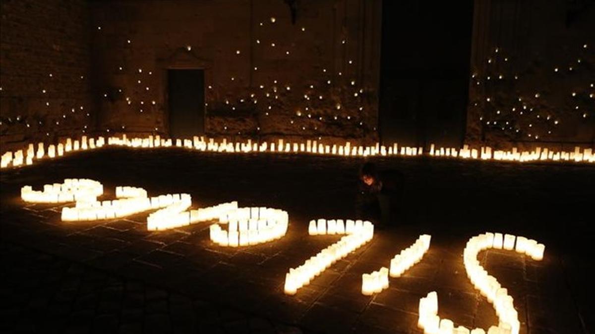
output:
[[[328,222],[328,224],[327,224]],[[337,226],[342,226],[341,219],[318,219],[311,220],[308,233],[310,235],[324,234],[347,234],[338,242],[324,248],[315,256],[306,260],[301,266],[290,268],[285,275],[284,292],[287,295],[295,295],[297,290],[308,285],[312,279],[320,275],[337,260],[343,259],[347,254],[355,251],[374,237],[374,225],[368,221],[346,220],[345,229],[342,231]],[[315,226],[313,228],[312,226]],[[331,227],[329,227],[331,226]],[[332,227],[334,226],[334,228]],[[329,232],[330,230],[330,232]]]

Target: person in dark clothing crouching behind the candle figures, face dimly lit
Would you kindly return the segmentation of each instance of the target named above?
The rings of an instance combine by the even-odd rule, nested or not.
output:
[[[402,174],[378,171],[374,163],[366,162],[360,169],[358,184],[358,218],[371,220],[380,226],[395,225],[403,188]]]

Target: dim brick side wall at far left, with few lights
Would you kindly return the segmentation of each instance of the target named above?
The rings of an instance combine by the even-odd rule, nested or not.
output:
[[[2,151],[90,130],[95,108],[87,2],[3,0],[0,4]]]

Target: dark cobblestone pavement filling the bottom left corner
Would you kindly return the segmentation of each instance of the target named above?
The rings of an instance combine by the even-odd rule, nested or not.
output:
[[[302,333],[32,248],[0,251],[2,333]]]

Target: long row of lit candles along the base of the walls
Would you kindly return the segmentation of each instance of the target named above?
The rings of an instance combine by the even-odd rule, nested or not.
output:
[[[34,144],[29,144],[27,150],[17,150],[15,152],[5,152],[0,159],[0,168],[8,166],[32,165],[34,160],[40,160],[44,157],[54,158],[63,156],[68,152],[80,150],[95,149],[105,145],[105,138],[98,137],[87,138],[82,136],[80,140],[71,140],[67,138],[64,143],[57,145],[50,144],[47,147],[47,153],[44,143],[37,143],[37,150]],[[161,138],[160,136],[148,136],[146,138],[127,138],[126,134],[122,137],[109,137],[108,146],[127,146],[140,148],[154,147],[185,147],[208,152],[221,153],[305,153],[314,155],[334,155],[334,156],[421,156],[432,157],[453,157],[460,159],[481,159],[481,160],[502,160],[502,161],[568,161],[568,162],[595,162],[593,149],[581,149],[576,146],[573,151],[553,151],[547,148],[536,147],[531,151],[520,151],[516,147],[511,150],[493,150],[491,147],[481,147],[479,150],[469,148],[464,145],[461,149],[455,147],[436,147],[430,145],[430,150],[424,153],[423,147],[399,146],[397,143],[391,146],[384,146],[376,143],[373,146],[356,146],[347,141],[343,145],[323,144],[317,140],[306,140],[302,142],[286,142],[283,139],[277,141],[264,141],[256,143],[248,139],[245,142],[215,141],[214,138],[205,138],[203,136],[194,136],[190,139]]]

